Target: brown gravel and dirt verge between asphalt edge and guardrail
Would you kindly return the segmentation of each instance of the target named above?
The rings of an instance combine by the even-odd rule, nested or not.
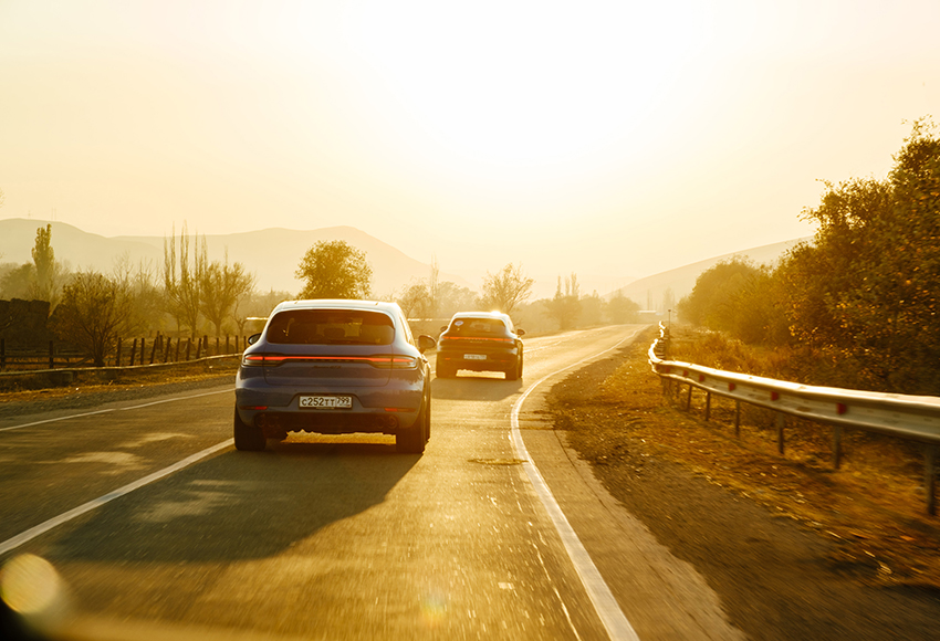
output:
[[[828,511],[832,522],[798,517],[786,503],[794,498],[788,475],[815,473],[739,449],[720,428],[670,407],[646,362],[648,345],[629,346],[555,385],[555,429],[616,500],[696,567],[730,621],[754,640],[940,639],[940,588],[918,582],[915,570],[902,580],[891,574],[902,559],[882,556],[887,548],[875,547],[866,523],[847,529],[846,515],[835,511],[843,505],[832,496],[806,491],[800,498]],[[615,371],[612,393],[605,387]],[[732,475],[746,488],[731,485]],[[852,492],[835,475],[821,476],[835,493]],[[850,493],[842,501],[861,509],[864,498]],[[873,521],[880,518],[876,508],[869,507]],[[889,532],[886,546],[917,545],[923,558],[937,556],[936,523],[908,517],[897,526],[905,538]]]

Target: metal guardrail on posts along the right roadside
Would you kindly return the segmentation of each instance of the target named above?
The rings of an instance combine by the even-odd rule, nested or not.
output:
[[[833,427],[834,467],[839,466],[843,428],[926,443],[923,486],[927,512],[936,514],[934,465],[940,445],[940,398],[800,385],[668,360],[669,330],[661,322],[659,332],[660,337],[649,347],[649,365],[661,379],[689,386],[686,409],[691,404],[693,388],[706,392],[706,420],[710,416],[711,395],[733,399],[737,402],[735,434],[740,430],[742,402],[772,410],[776,412],[777,451],[781,454],[784,451],[785,416]]]

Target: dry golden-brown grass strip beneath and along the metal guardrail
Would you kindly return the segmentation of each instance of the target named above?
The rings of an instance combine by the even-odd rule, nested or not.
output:
[[[781,456],[769,412],[742,411],[735,438],[733,401],[713,398],[707,422],[704,395],[693,395],[686,412],[688,388],[681,395],[664,393],[646,362],[654,337],[650,332],[635,344],[627,362],[605,380],[594,400],[596,413],[613,412],[628,428],[631,448],[639,445],[647,455],[680,463],[835,539],[842,558],[833,560],[867,564],[873,580],[940,587],[940,519],[926,514],[918,445],[848,432],[843,438],[842,466],[833,470],[829,429],[791,420]],[[680,340],[692,338],[683,333]],[[672,357],[680,358],[675,353]],[[746,367],[753,358],[744,350],[712,354],[703,365],[723,362],[724,369],[732,369],[737,367],[728,364]],[[607,455],[616,458],[617,452]]]

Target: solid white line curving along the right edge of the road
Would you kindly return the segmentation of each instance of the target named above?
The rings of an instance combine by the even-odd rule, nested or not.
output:
[[[630,622],[620,609],[619,603],[617,603],[617,599],[614,598],[610,587],[606,584],[604,577],[600,576],[597,566],[594,565],[594,560],[584,548],[584,544],[581,543],[581,539],[577,537],[577,534],[575,534],[574,528],[571,526],[571,523],[568,523],[568,519],[565,517],[564,512],[562,512],[557,501],[555,501],[555,497],[549,488],[549,485],[545,483],[545,480],[542,477],[542,473],[539,471],[539,467],[536,467],[529,458],[529,450],[522,441],[522,432],[519,429],[519,411],[529,395],[547,379],[552,378],[556,374],[565,371],[566,369],[577,367],[585,360],[597,358],[598,356],[616,349],[625,340],[636,336],[636,334],[637,333],[634,332],[613,347],[598,351],[593,356],[582,358],[577,362],[553,371],[532,383],[529,389],[519,397],[519,400],[513,403],[510,419],[512,425],[511,440],[513,448],[515,449],[515,458],[524,461],[523,467],[525,467],[525,472],[529,474],[529,481],[532,483],[532,486],[535,488],[535,493],[539,495],[539,498],[542,500],[542,504],[549,512],[552,523],[554,523],[555,529],[557,529],[558,535],[562,538],[562,543],[564,543],[565,549],[567,550],[568,556],[581,577],[581,581],[584,584],[584,588],[587,590],[588,597],[591,597],[591,602],[594,603],[594,608],[597,610],[597,616],[600,618],[600,621],[604,623],[604,628],[607,630],[608,637],[615,641],[639,641],[639,637],[637,637],[636,631],[633,626],[630,626]]]

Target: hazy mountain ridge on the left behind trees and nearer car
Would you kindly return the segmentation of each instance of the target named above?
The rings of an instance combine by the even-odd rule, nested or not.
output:
[[[105,238],[87,233],[64,222],[42,220],[0,220],[0,262],[24,263],[32,260],[39,227],[52,224],[52,249],[55,258],[67,261],[73,270],[94,269],[109,272],[116,259],[127,255],[137,264],[150,261],[155,271],[163,267],[163,237]],[[304,252],[321,240],[343,240],[366,252],[373,267],[373,294],[391,294],[412,279],[425,279],[429,265],[409,258],[394,246],[352,227],[316,230],[264,229],[248,233],[206,235],[210,260],[221,260],[228,249],[230,262],[243,263],[258,277],[258,287],[283,290],[296,294],[301,282],[294,271]],[[463,279],[446,273],[441,280],[471,287]],[[473,288],[473,287],[471,287]]]

